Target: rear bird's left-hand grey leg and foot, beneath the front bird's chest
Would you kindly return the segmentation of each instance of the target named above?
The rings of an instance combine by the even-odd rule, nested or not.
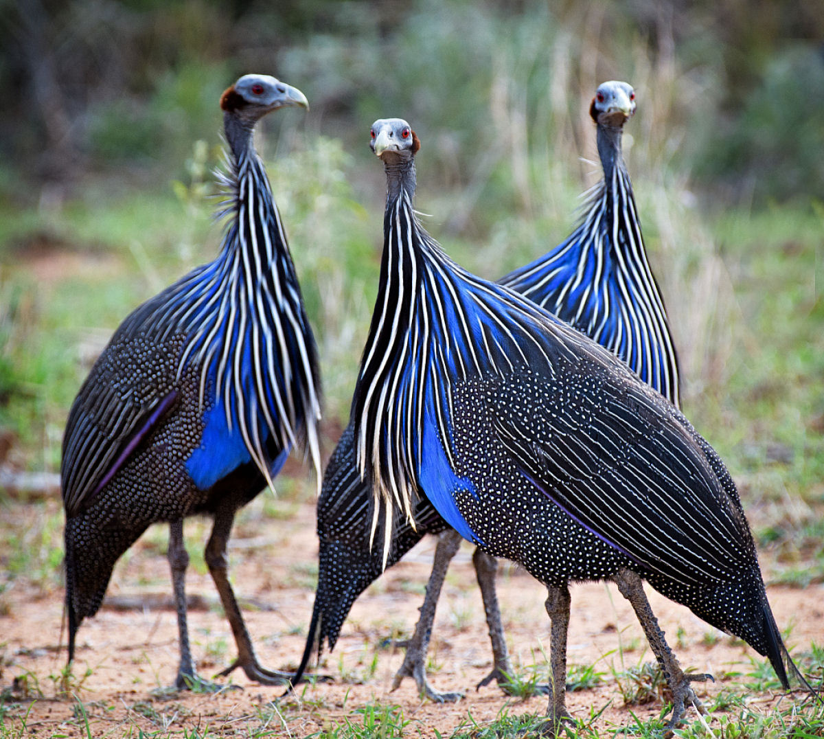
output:
[[[404,662],[395,673],[392,681],[392,690],[397,690],[405,677],[414,678],[421,695],[426,695],[435,703],[452,703],[463,698],[462,693],[438,693],[426,679],[426,652],[429,648],[429,637],[432,635],[432,624],[435,620],[435,607],[438,606],[438,597],[441,595],[443,578],[447,575],[447,568],[461,546],[461,535],[454,529],[447,529],[438,536],[438,546],[435,548],[435,559],[432,574],[426,586],[424,605],[420,606],[420,618],[415,625],[414,635],[405,643],[397,643],[406,647]]]

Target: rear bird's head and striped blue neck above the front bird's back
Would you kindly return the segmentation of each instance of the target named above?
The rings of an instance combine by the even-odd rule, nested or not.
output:
[[[635,93],[626,82],[598,87],[590,115],[603,179],[588,193],[569,238],[500,282],[582,330],[679,405],[677,353],[621,152],[623,127],[634,111]]]

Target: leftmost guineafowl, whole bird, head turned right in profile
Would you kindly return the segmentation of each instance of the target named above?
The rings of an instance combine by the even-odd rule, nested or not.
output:
[[[66,510],[68,657],[95,615],[112,568],[153,522],[170,522],[169,562],[180,627],[176,686],[195,680],[186,627],[183,519],[213,516],[206,562],[251,680],[261,667],[227,578],[226,547],[242,507],[278,474],[293,447],[319,474],[320,377],[286,234],[255,124],[307,107],[274,77],[241,77],[220,105],[231,148],[230,218],[218,258],[139,306],[115,331],[68,416],[61,478]]]

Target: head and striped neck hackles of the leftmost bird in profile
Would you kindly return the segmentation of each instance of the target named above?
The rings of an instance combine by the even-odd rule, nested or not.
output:
[[[241,93],[241,82],[249,91]],[[254,97],[263,98],[257,104]],[[251,101],[250,101],[251,99]],[[267,439],[303,447],[320,480],[319,375],[286,233],[263,161],[255,123],[283,106],[307,107],[296,88],[247,75],[223,93],[224,131],[232,151],[223,185],[229,216],[218,258],[179,283],[174,317],[189,334],[179,374],[200,367],[200,398],[213,385],[227,427],[237,428],[252,461],[272,486]]]

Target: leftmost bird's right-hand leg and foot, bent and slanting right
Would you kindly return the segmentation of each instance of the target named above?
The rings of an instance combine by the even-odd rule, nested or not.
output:
[[[208,571],[212,575],[215,587],[218,588],[218,595],[223,604],[223,610],[229,624],[232,626],[232,634],[235,636],[237,645],[237,658],[232,664],[218,675],[227,676],[237,667],[242,667],[246,672],[246,677],[262,685],[283,685],[293,677],[293,673],[267,670],[261,667],[255,657],[255,649],[243,622],[241,609],[237,606],[235,593],[227,576],[226,546],[229,535],[232,532],[232,523],[235,520],[235,507],[230,505],[218,507],[215,513],[212,536],[209,536],[206,545],[205,559]]]

